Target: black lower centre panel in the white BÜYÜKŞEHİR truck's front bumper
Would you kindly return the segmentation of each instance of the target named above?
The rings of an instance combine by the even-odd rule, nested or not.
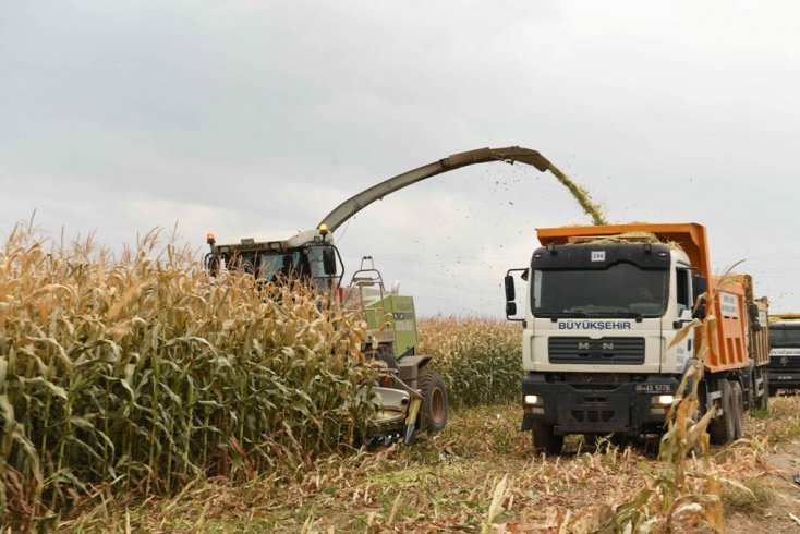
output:
[[[556,409],[556,434],[627,432],[629,403],[625,393],[562,392]]]

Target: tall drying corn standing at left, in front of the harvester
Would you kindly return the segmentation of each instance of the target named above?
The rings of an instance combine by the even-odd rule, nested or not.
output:
[[[352,441],[363,335],[300,287],[211,281],[155,232],[114,259],[17,227],[0,251],[0,524]]]

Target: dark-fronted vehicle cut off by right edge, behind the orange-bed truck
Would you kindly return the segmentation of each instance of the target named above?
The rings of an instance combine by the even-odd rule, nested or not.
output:
[[[769,395],[800,389],[800,314],[769,315]]]

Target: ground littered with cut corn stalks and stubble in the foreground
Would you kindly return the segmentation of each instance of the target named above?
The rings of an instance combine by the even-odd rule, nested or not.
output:
[[[517,405],[462,411],[413,447],[323,458],[244,486],[203,481],[170,499],[106,502],[61,529],[592,532],[593,521],[630,506],[664,473],[655,440],[597,449],[572,436],[562,454],[544,457],[532,452],[519,422]],[[720,488],[724,532],[800,532],[800,485],[792,480],[800,472],[800,397],[772,399],[768,415],[748,416],[743,439],[686,466],[700,494],[708,478]],[[649,506],[646,518],[663,515]],[[674,514],[671,532],[713,532],[702,513],[686,510]]]

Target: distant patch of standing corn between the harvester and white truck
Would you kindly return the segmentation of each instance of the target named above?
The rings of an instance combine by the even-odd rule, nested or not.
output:
[[[420,352],[448,387],[450,404],[475,406],[519,401],[522,329],[502,319],[433,317],[419,323]]]

